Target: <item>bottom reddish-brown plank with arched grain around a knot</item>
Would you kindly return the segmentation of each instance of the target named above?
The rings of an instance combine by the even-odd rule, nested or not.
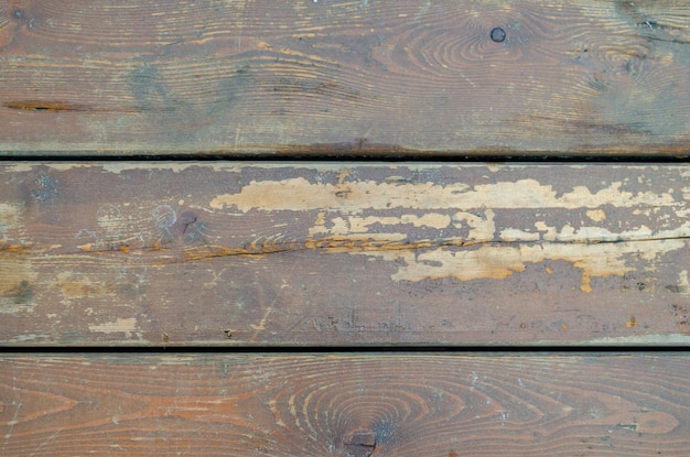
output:
[[[101,456],[687,456],[687,356],[0,359],[0,449]]]

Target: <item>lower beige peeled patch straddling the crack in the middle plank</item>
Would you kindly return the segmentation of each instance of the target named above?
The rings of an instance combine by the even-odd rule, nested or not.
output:
[[[690,238],[690,222],[675,230],[654,231],[640,227],[635,231],[616,233],[600,227],[575,229],[569,225],[557,231],[556,227],[549,227],[543,221],[535,224],[537,232],[504,229],[496,238],[494,218],[494,211],[490,210],[484,211],[482,217],[471,213],[459,213],[452,218],[453,225],[456,228],[468,227],[466,238],[438,239],[435,244],[433,240],[417,244],[409,242],[407,250],[405,244],[396,244],[396,241],[407,238],[405,233],[386,231],[367,233],[368,225],[348,225],[339,216],[327,221],[326,227],[326,216],[320,214],[321,225],[312,228],[310,235],[320,235],[324,239],[331,237],[341,242],[351,241],[352,244],[347,247],[349,252],[396,261],[396,265],[400,265],[400,260],[403,260],[406,265],[398,266],[398,272],[391,276],[395,281],[417,282],[440,278],[456,278],[463,281],[502,280],[524,271],[527,263],[563,260],[572,262],[582,271],[580,289],[587,293],[592,292],[593,278],[621,276],[635,270],[627,264],[633,255],[646,260],[648,269],[654,270],[660,255],[687,248],[686,239]],[[391,224],[399,224],[398,218],[391,219]],[[367,218],[367,221],[382,224],[386,219]],[[367,238],[387,243],[367,244],[363,242]],[[489,241],[495,243],[489,244]],[[517,246],[504,246],[502,242]],[[466,247],[476,243],[485,244],[479,248]],[[327,243],[319,244],[317,240],[313,244],[324,247],[327,252],[347,251],[330,247]],[[459,250],[450,249],[450,246],[465,247]]]

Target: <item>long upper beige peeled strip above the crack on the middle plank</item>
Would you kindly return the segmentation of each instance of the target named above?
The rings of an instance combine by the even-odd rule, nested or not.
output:
[[[551,185],[536,179],[502,182],[471,187],[455,183],[440,186],[434,183],[391,184],[359,181],[342,184],[312,184],[303,177],[282,181],[252,181],[239,194],[218,195],[209,202],[214,209],[234,207],[240,211],[259,209],[313,210],[328,209],[359,214],[364,209],[441,209],[456,208],[597,208],[603,205],[616,207],[671,206],[678,202],[669,193],[640,192],[633,195],[621,191],[622,183],[592,193],[587,187],[575,186],[569,193],[557,196]]]

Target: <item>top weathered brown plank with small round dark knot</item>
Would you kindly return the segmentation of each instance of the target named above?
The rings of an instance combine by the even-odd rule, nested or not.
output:
[[[684,155],[689,42],[686,0],[3,0],[0,151]]]

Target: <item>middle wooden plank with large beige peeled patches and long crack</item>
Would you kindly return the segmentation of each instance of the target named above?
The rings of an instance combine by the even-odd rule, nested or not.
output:
[[[0,167],[0,341],[688,344],[687,166]]]

